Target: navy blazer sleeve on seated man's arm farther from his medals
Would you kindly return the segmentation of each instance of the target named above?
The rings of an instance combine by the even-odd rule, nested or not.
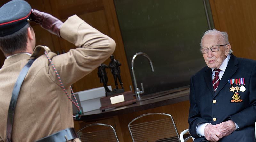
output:
[[[196,93],[194,90],[192,77],[190,79],[189,101],[190,101],[189,116],[188,116],[189,133],[191,134],[192,137],[199,138],[199,136],[196,133],[198,124],[209,123],[209,122],[206,121],[205,119],[201,118],[201,114],[200,114],[198,106],[197,106]]]

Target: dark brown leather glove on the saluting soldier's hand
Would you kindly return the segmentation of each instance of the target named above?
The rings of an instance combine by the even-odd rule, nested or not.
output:
[[[30,19],[37,24],[40,24],[42,28],[48,30],[50,33],[60,37],[60,28],[63,22],[51,14],[32,9]]]

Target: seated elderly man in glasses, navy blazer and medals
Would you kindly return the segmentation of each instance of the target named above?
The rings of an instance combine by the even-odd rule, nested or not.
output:
[[[188,122],[194,142],[255,141],[256,62],[236,58],[228,34],[217,30],[204,33],[200,51],[207,66],[190,81]]]

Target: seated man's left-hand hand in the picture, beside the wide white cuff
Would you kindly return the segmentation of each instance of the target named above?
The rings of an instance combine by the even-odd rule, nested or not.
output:
[[[213,127],[212,124],[208,124],[205,126],[204,135],[208,141],[214,142],[220,140],[223,137],[222,134],[216,129],[216,127]]]

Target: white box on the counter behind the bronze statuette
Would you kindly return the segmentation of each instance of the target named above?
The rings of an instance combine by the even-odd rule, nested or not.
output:
[[[112,90],[112,87],[108,86],[108,89]],[[105,97],[105,88],[98,87],[76,92],[75,96],[83,113],[96,110],[101,107],[100,98]],[[77,108],[75,105],[73,105],[73,113],[77,113]]]

